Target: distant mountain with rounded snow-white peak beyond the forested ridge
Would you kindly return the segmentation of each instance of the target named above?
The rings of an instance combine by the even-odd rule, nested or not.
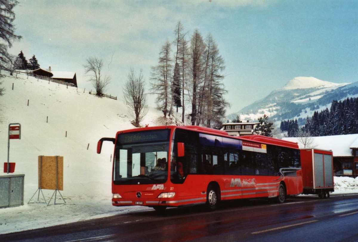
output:
[[[358,82],[334,83],[322,81],[315,77],[295,77],[280,89],[268,96],[231,114],[237,114],[242,120],[257,120],[263,114],[279,124],[281,120],[298,119],[304,124],[305,117],[312,116],[315,110],[330,107],[333,100],[342,100],[358,95]]]

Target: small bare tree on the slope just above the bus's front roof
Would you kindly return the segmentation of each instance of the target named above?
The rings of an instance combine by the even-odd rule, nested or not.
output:
[[[130,110],[134,111],[134,126],[139,127],[140,121],[147,114],[145,81],[143,79],[142,70],[136,75],[133,68],[127,75],[127,82],[123,89],[124,100]]]

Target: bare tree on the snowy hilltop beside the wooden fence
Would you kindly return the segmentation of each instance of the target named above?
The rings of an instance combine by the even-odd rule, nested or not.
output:
[[[111,81],[109,76],[101,74],[103,60],[97,57],[89,57],[83,67],[84,73],[90,77],[88,81],[92,82],[93,87],[96,89],[96,95],[102,96]]]

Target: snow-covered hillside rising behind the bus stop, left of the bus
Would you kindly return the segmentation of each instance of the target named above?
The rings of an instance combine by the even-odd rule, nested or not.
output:
[[[65,188],[82,183],[83,194],[110,193],[113,147],[106,145],[102,154],[97,155],[96,145],[101,137],[114,137],[118,130],[134,128],[123,102],[98,98],[76,87],[21,77],[26,78],[18,75],[3,79],[6,90],[0,98],[4,115],[0,124],[1,160],[7,160],[9,123],[21,123],[21,140],[10,142],[10,161],[16,162],[17,172],[37,171],[39,155],[64,156]],[[159,115],[151,110],[144,123],[155,125]],[[91,176],[93,181],[86,183],[83,176]],[[26,192],[36,190],[37,172],[26,174],[26,184],[29,186]],[[64,193],[78,195],[78,192]]]

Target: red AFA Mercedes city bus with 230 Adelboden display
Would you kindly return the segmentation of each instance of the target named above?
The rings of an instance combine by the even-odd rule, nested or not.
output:
[[[166,207],[275,197],[303,191],[300,150],[289,141],[232,137],[200,126],[159,126],[119,131],[115,144],[112,205]]]

